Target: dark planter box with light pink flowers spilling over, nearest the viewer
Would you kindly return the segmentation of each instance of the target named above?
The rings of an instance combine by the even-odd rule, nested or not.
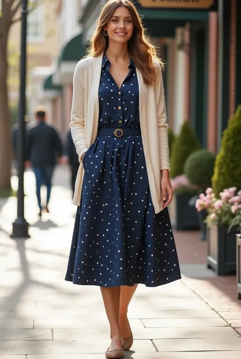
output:
[[[198,211],[207,210],[207,266],[218,275],[236,271],[236,233],[237,227],[231,226],[236,216],[236,204],[241,205],[241,191],[225,188],[215,197],[212,188],[207,188],[196,201]]]

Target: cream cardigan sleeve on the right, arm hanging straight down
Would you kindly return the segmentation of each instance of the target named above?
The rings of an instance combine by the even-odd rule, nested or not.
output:
[[[155,99],[156,99],[156,111],[158,122],[158,136],[159,136],[159,154],[160,154],[160,169],[170,171],[169,165],[169,147],[167,137],[167,116],[166,105],[164,97],[164,88],[162,80],[162,70],[158,63],[158,79],[155,86]]]

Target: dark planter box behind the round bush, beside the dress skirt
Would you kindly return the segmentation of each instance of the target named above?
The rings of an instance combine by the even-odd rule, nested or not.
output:
[[[191,193],[177,193],[175,195],[175,229],[178,231],[200,229],[196,208],[189,206],[192,197],[193,194]]]

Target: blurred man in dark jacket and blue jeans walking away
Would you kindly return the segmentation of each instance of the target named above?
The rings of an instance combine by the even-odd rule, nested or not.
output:
[[[27,141],[26,167],[32,167],[36,177],[36,194],[39,205],[39,215],[42,215],[41,186],[47,187],[45,209],[49,212],[48,204],[52,187],[52,175],[56,160],[61,162],[63,146],[56,130],[47,125],[46,110],[43,106],[36,109],[37,125],[29,129]]]

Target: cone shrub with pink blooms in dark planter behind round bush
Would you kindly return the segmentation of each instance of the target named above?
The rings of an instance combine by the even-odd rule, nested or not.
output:
[[[175,190],[170,214],[177,230],[199,229],[195,208],[189,207],[189,201],[197,194],[197,189],[184,176],[184,165],[188,156],[200,148],[195,132],[188,122],[184,122],[180,133],[175,137],[170,156],[170,178]]]

